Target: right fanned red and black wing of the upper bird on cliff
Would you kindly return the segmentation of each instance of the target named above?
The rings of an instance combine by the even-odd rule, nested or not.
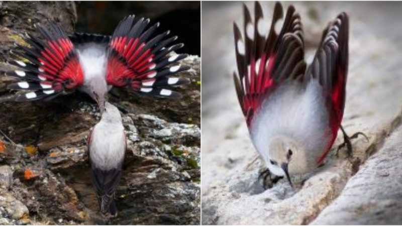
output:
[[[180,93],[168,89],[188,83],[188,79],[169,77],[189,67],[171,64],[187,57],[172,54],[183,46],[167,47],[177,39],[168,37],[169,31],[153,36],[159,23],[146,28],[149,19],[134,21],[134,15],[123,19],[109,43],[107,82],[114,86],[127,86],[143,95],[180,97]]]

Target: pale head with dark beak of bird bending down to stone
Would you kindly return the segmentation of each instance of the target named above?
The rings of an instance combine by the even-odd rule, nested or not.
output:
[[[267,166],[273,174],[286,176],[290,186],[293,186],[289,169],[291,172],[294,167],[297,167],[297,162],[293,159],[299,153],[303,153],[303,148],[297,141],[285,136],[275,137],[268,146]]]

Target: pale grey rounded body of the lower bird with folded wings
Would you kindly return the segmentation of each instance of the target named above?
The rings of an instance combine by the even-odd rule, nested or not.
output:
[[[101,120],[92,130],[89,156],[92,164],[102,170],[117,168],[124,159],[126,137],[120,123]]]

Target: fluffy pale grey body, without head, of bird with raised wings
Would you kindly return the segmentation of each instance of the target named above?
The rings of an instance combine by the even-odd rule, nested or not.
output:
[[[304,145],[307,158],[317,158],[328,143],[329,118],[322,87],[311,80],[306,88],[294,81],[284,83],[267,98],[253,118],[250,136],[267,160],[269,140],[288,136]]]

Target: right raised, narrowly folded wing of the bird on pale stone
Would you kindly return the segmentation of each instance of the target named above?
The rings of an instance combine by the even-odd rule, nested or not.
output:
[[[348,42],[349,19],[346,13],[341,13],[324,30],[321,44],[306,72],[306,81],[318,79],[322,85],[330,115],[332,138],[322,156],[317,159],[319,163],[334,143],[345,109]]]

